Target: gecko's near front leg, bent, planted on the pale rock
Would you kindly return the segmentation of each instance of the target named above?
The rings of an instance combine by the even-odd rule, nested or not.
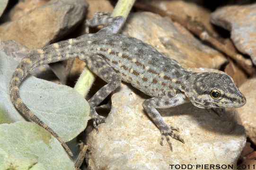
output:
[[[169,136],[171,136],[174,139],[177,139],[181,141],[182,143],[185,143],[180,136],[176,135],[173,130],[177,130],[178,128],[170,127],[168,126],[164,120],[162,119],[161,115],[159,114],[157,109],[167,109],[171,107],[178,106],[180,104],[183,104],[187,102],[186,97],[184,93],[178,93],[175,96],[172,96],[170,93],[166,96],[160,96],[160,97],[153,97],[150,99],[145,100],[142,103],[143,108],[146,110],[150,118],[153,120],[155,125],[159,128],[161,132],[161,141],[160,144],[163,145],[164,138],[167,139],[168,144],[172,151],[172,144],[170,141]]]

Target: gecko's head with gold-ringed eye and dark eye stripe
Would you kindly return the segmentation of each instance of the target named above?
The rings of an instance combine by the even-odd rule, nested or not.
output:
[[[232,78],[225,74],[196,73],[189,93],[190,101],[200,108],[236,108],[246,103]]]

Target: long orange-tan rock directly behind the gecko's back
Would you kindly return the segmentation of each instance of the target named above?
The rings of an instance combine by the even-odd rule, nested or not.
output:
[[[220,52],[194,38],[183,26],[150,12],[130,14],[121,33],[150,44],[185,68],[218,69],[227,61]]]

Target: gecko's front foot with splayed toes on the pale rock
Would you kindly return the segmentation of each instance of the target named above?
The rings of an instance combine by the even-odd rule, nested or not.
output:
[[[163,146],[163,140],[164,140],[164,138],[166,138],[166,140],[167,140],[167,142],[168,142],[168,144],[170,146],[171,151],[173,151],[173,150],[172,150],[172,143],[170,141],[169,136],[171,136],[172,138],[174,138],[174,139],[176,139],[176,140],[178,140],[178,141],[180,141],[182,143],[185,143],[184,140],[182,138],[180,138],[180,136],[176,135],[173,132],[173,130],[179,131],[178,128],[169,127],[167,125],[162,127],[162,129],[160,130],[161,131],[161,141],[160,141],[160,144]]]

